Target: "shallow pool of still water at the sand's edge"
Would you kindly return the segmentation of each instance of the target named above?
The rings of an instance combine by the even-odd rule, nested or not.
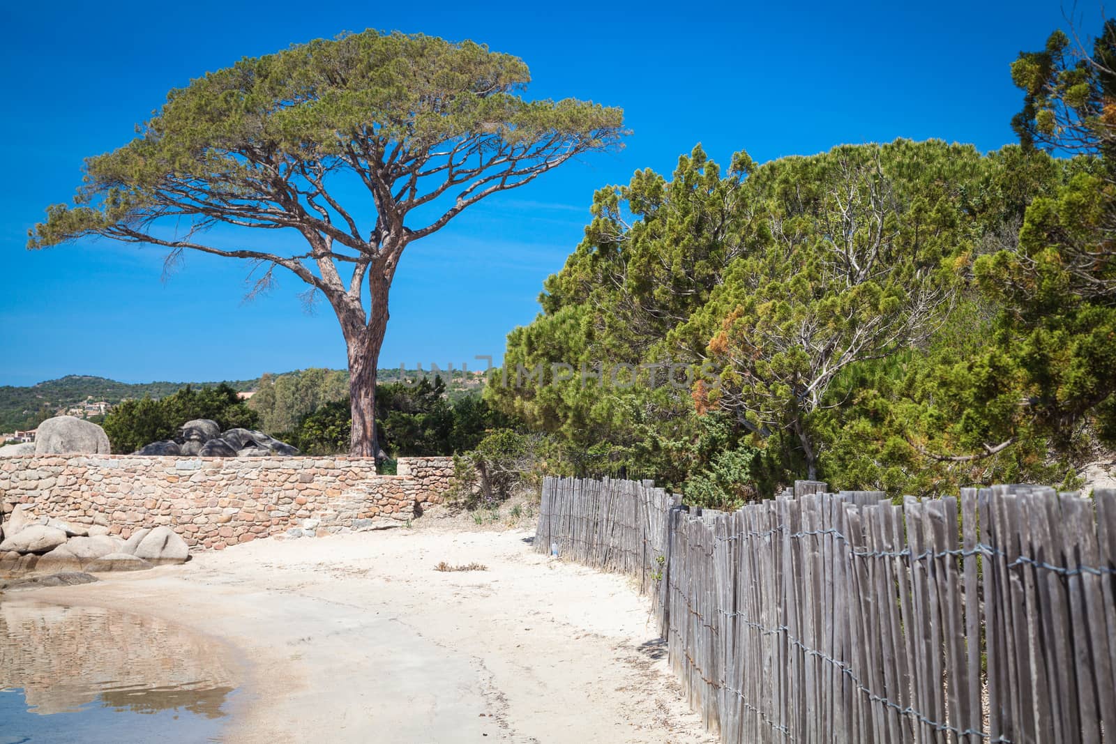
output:
[[[221,741],[228,650],[165,620],[0,601],[0,744]]]

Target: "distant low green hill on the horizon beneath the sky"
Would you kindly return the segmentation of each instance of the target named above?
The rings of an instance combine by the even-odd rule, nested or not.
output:
[[[280,373],[280,375],[290,373]],[[377,377],[381,383],[391,383],[400,379],[400,370],[398,368],[381,369]],[[259,386],[260,378],[209,383],[121,383],[92,375],[67,375],[23,387],[2,385],[0,386],[0,433],[35,428],[41,422],[57,415],[59,409],[76,406],[90,397],[95,402],[104,400],[117,404],[126,398],[142,398],[144,396],[162,398],[173,395],[186,385],[198,388],[220,385],[222,381],[235,390],[248,392],[254,390]],[[469,383],[455,380],[450,385],[450,392],[451,395],[461,394],[465,390],[478,389],[479,385],[479,379]]]

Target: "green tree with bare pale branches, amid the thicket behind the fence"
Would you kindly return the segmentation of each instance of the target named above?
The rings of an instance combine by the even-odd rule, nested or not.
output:
[[[700,390],[699,405],[734,412],[759,437],[792,435],[814,477],[810,417],[836,376],[941,321],[955,284],[943,262],[972,244],[975,225],[960,215],[984,167],[972,147],[905,141],[760,167],[750,250],[674,332],[712,337],[720,386]]]

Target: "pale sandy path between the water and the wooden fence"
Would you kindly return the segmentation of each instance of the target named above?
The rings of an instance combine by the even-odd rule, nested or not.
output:
[[[230,742],[712,742],[646,600],[529,532],[262,540],[26,599],[145,612],[242,657]],[[433,567],[477,561],[487,571]]]

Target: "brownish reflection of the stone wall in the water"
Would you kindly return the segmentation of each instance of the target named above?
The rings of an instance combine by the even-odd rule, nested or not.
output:
[[[224,715],[234,687],[224,653],[202,636],[143,615],[0,601],[0,690],[21,689],[29,713],[174,711],[162,717],[212,721]]]

